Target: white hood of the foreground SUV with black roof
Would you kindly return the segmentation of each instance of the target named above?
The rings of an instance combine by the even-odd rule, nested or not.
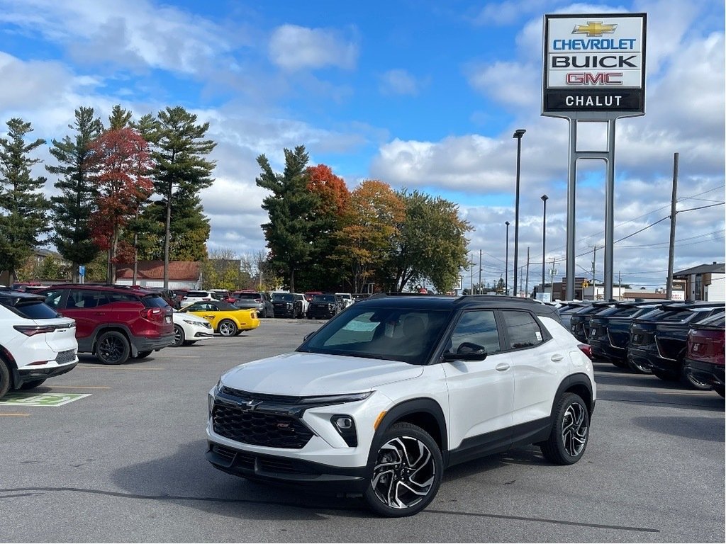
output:
[[[234,389],[270,395],[336,395],[420,376],[423,367],[401,361],[286,353],[232,368],[222,382]]]

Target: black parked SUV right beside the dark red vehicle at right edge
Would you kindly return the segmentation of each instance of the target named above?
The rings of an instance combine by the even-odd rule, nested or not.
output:
[[[688,330],[693,323],[724,311],[723,302],[669,302],[630,324],[628,363],[665,380],[682,380],[693,389],[710,389],[685,372]]]

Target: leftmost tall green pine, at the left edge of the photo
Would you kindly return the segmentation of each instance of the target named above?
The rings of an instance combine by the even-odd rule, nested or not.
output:
[[[25,136],[33,128],[19,118],[9,120],[7,128],[8,138],[0,138],[0,270],[17,280],[17,269],[36,247],[47,243],[41,236],[50,231],[50,205],[42,192],[46,178],[30,176],[30,168],[41,160],[28,156],[45,140],[26,144]]]

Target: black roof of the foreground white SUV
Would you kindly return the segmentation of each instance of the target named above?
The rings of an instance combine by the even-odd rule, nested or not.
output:
[[[454,310],[459,308],[529,310],[539,316],[552,316],[560,321],[555,306],[531,298],[506,297],[497,294],[465,294],[462,297],[453,297],[446,294],[376,293],[366,300],[356,302],[356,306],[358,305],[428,310]]]

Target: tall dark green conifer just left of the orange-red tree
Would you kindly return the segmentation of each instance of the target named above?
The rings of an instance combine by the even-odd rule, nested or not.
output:
[[[309,215],[319,202],[318,194],[308,190],[308,154],[304,146],[294,151],[285,149],[282,174],[272,171],[264,155],[257,157],[257,162],[262,173],[255,182],[272,193],[262,201],[262,209],[269,215],[269,223],[262,225],[269,261],[285,286],[295,292],[295,272],[310,262],[314,229]]]

